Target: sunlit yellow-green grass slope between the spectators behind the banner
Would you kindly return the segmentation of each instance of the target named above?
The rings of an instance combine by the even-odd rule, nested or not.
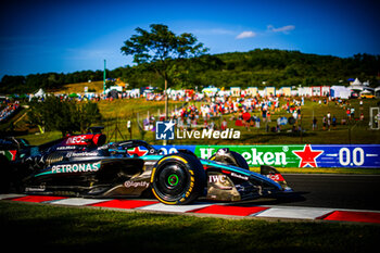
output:
[[[202,140],[202,139],[182,139],[175,140],[173,143],[176,144],[297,144],[297,143],[313,143],[313,144],[347,144],[347,143],[380,143],[380,131],[370,130],[368,128],[369,118],[369,107],[376,106],[379,100],[364,100],[363,111],[359,106],[358,100],[351,100],[350,106],[356,109],[355,117],[358,117],[359,113],[364,113],[364,121],[352,121],[346,125],[338,124],[335,129],[330,131],[324,130],[321,126],[322,116],[328,112],[331,115],[335,115],[338,123],[342,118],[345,118],[345,109],[340,105],[335,105],[334,102],[329,102],[328,104],[319,105],[318,102],[312,100],[306,100],[305,105],[302,107],[302,122],[299,124],[304,129],[302,136],[300,132],[291,132],[290,125],[283,126],[281,132],[266,131],[265,124],[261,124],[261,128],[250,128],[246,130],[244,127],[235,126],[235,121],[232,117],[237,117],[233,114],[224,115],[228,122],[228,127],[241,130],[241,139],[239,140]],[[281,100],[281,104],[284,101]],[[176,106],[181,106],[181,102],[170,102],[169,110],[173,111]],[[200,107],[201,102],[191,102]],[[150,101],[147,102],[144,99],[137,100],[114,100],[114,101],[100,101],[98,103],[101,114],[103,115],[103,121],[98,123],[98,125],[103,125],[105,127],[104,132],[112,138],[109,141],[116,141],[123,139],[129,139],[130,135],[127,129],[127,122],[131,121],[132,139],[144,139],[150,143],[161,144],[162,141],[155,140],[153,131],[145,131],[143,135],[139,131],[137,119],[139,119],[142,125],[142,121],[149,115],[154,115],[157,118],[159,113],[164,112],[163,101]],[[259,112],[255,111],[256,116],[259,116]],[[268,123],[269,129],[277,125],[276,119],[280,116],[291,116],[291,114],[286,113],[281,110],[271,115],[271,122]],[[318,119],[318,129],[312,129],[313,117]],[[212,118],[217,125],[223,121],[220,117]],[[117,122],[117,128],[116,128]],[[16,128],[25,128],[26,119],[22,119],[15,126]],[[203,125],[203,121],[200,119],[199,125]],[[35,129],[37,131],[37,129]],[[116,136],[117,132],[117,136]],[[123,135],[123,137],[121,136]],[[48,140],[53,140],[60,137],[59,132],[47,132],[45,135],[26,135],[23,136],[28,139],[34,144],[40,144]]]

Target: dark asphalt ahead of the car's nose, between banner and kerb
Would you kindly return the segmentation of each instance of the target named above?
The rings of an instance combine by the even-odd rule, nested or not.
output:
[[[277,200],[256,200],[255,204],[380,211],[380,175],[284,174],[283,177],[294,193]]]

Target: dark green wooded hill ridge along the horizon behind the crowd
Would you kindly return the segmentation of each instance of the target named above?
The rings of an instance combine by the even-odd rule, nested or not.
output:
[[[380,55],[355,54],[352,58],[307,54],[300,51],[255,49],[204,55],[203,64],[176,61],[170,72],[170,86],[176,88],[259,87],[347,85],[349,78],[358,77],[379,86]],[[187,63],[187,64],[183,64]],[[106,77],[121,78],[131,88],[148,85],[163,87],[163,80],[147,65],[117,67],[106,71]],[[5,75],[0,83],[2,93],[35,92],[39,88],[59,90],[67,84],[102,80],[101,71],[75,73],[46,73],[27,76]],[[265,84],[263,83],[265,81]]]

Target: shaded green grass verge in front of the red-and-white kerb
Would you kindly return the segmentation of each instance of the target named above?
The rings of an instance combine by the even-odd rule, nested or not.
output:
[[[379,226],[126,213],[0,202],[2,248],[53,252],[370,252]],[[10,248],[7,248],[10,246]]]

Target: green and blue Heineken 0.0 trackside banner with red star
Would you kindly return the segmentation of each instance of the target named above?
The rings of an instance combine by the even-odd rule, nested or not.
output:
[[[208,159],[218,149],[240,153],[251,167],[380,167],[380,144],[155,146],[165,154],[187,149]]]

